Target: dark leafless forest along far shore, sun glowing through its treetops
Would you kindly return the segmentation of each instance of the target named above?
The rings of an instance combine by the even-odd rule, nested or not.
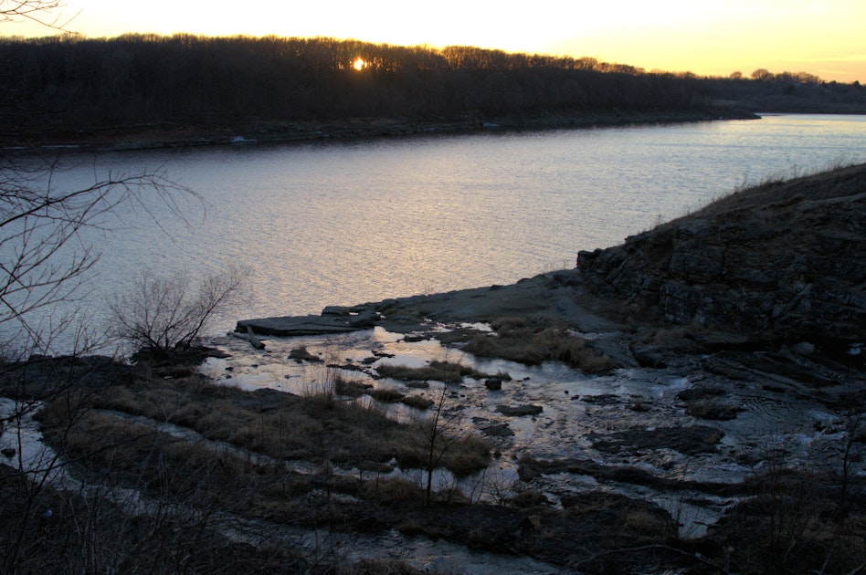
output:
[[[59,134],[720,110],[866,113],[859,82],[333,38],[0,38],[0,142]]]

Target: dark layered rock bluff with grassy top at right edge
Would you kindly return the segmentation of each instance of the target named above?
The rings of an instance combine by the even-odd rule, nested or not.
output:
[[[733,193],[625,244],[580,252],[599,294],[696,323],[822,345],[866,326],[866,164]]]

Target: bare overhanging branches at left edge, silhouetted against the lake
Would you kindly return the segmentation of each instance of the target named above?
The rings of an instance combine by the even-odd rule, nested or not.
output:
[[[44,322],[33,319],[35,312],[81,297],[99,260],[83,241],[84,229],[109,230],[122,223],[122,212],[132,210],[164,230],[164,215],[154,211],[155,205],[188,223],[180,198],[201,202],[162,170],[108,173],[71,190],[58,184],[58,171],[56,161],[0,163],[0,326],[6,331],[15,324],[20,331],[15,337],[25,342],[19,347],[40,352],[71,318],[46,330]]]

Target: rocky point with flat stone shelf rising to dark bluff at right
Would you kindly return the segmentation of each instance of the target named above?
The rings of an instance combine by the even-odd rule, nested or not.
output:
[[[407,333],[435,323],[544,318],[601,334],[590,345],[620,367],[703,356],[717,371],[830,394],[864,369],[864,229],[866,165],[850,166],[733,193],[621,246],[581,252],[575,269],[510,286],[328,307],[321,316],[245,319],[237,330]],[[669,335],[649,343],[650,332]],[[723,361],[707,359],[714,357]]]

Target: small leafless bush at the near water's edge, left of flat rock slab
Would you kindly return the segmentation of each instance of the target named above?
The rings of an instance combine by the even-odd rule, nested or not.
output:
[[[196,289],[185,274],[160,277],[145,272],[110,304],[115,335],[157,354],[189,347],[214,314],[238,296],[247,277],[246,268],[229,266],[206,276]]]

